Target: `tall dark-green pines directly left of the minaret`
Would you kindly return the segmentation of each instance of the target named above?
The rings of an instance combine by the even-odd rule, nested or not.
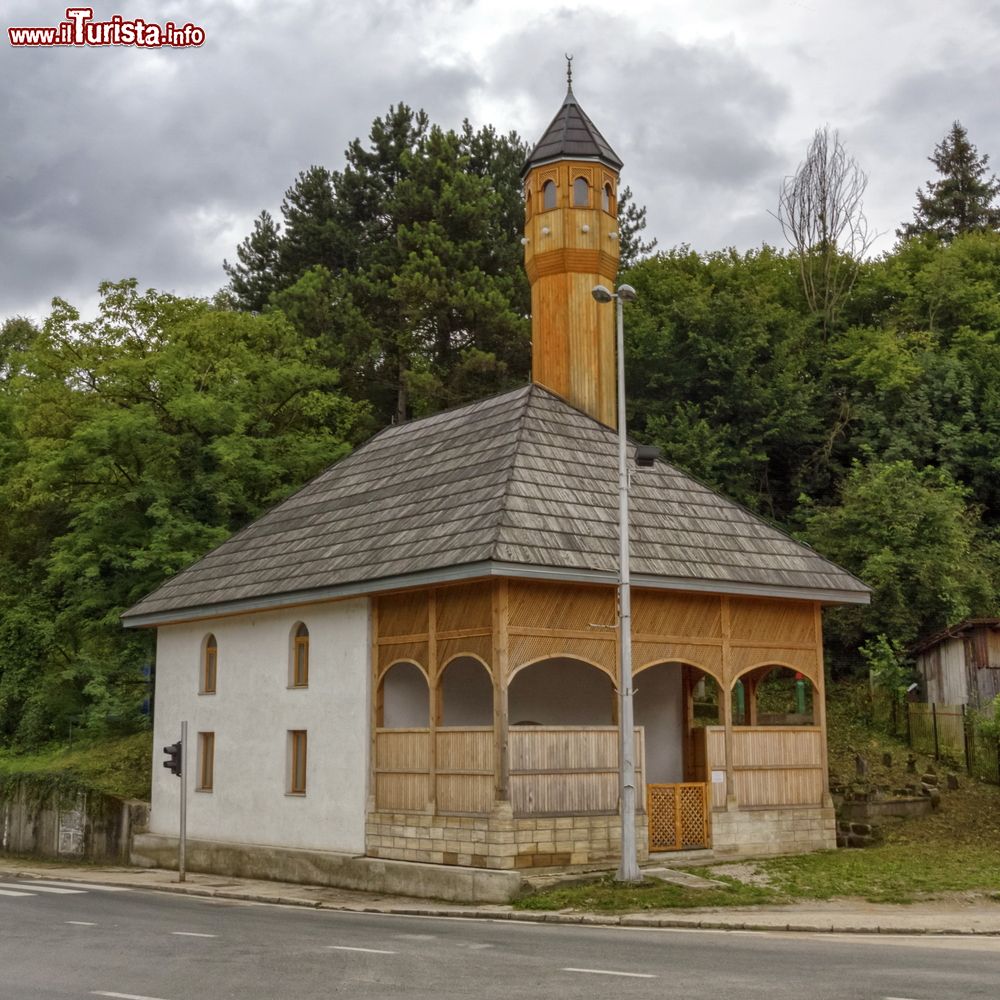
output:
[[[379,424],[517,384],[530,356],[524,155],[513,133],[445,131],[391,107],[342,170],[299,175],[283,227],[258,220],[227,265],[230,290],[241,308],[291,306],[331,359],[349,359],[344,387]]]

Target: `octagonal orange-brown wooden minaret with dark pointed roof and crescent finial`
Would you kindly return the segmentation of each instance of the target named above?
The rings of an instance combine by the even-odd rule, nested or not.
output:
[[[573,94],[525,161],[524,266],[531,282],[531,378],[609,427],[615,310],[591,289],[618,273],[622,161]]]

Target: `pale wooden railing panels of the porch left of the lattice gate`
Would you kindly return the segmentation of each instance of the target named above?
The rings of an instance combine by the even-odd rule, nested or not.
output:
[[[493,807],[493,730],[488,726],[378,729],[375,807],[389,812],[485,815]],[[644,745],[635,731],[636,786],[644,803]],[[510,795],[516,816],[618,811],[614,726],[511,727]]]

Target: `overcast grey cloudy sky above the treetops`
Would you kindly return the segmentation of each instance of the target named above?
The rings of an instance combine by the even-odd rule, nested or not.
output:
[[[884,232],[912,215],[954,119],[1000,169],[1000,0],[93,0],[205,31],[196,49],[14,49],[0,39],[0,319],[85,313],[105,279],[225,284],[262,208],[339,168],[405,101],[534,141],[574,91],[625,161],[661,247],[779,243],[769,214],[818,126],[870,175]],[[7,0],[2,27],[65,4]]]

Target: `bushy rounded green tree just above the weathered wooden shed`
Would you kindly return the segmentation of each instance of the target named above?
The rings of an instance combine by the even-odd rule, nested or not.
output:
[[[997,551],[969,491],[912,462],[855,462],[840,502],[803,500],[804,538],[873,589],[870,607],[838,608],[828,640],[854,650],[882,635],[908,645],[970,614],[997,609]]]

